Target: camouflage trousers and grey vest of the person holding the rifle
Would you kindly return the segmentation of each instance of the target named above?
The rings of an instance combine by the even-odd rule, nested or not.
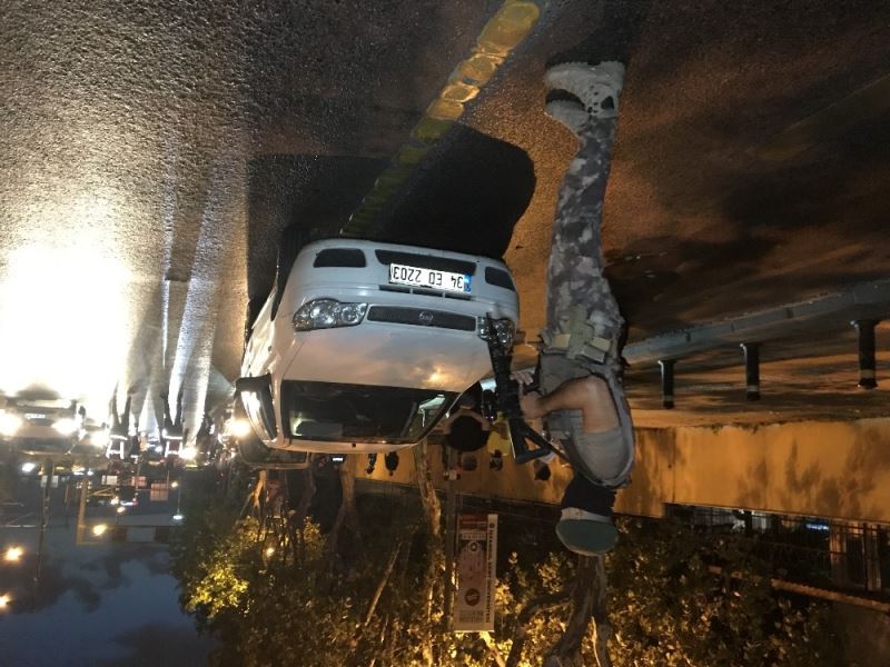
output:
[[[578,132],[578,151],[563,179],[553,222],[547,323],[541,356],[544,394],[590,375],[601,377],[609,387],[622,434],[616,445],[620,451],[602,452],[609,455],[604,457],[586,445],[590,436],[580,430],[581,415],[556,411],[546,418],[548,430],[563,444],[575,470],[589,480],[585,485],[593,482],[606,489],[627,484],[634,458],[633,424],[622,384],[624,319],[603,276],[603,201],[615,126],[616,119],[587,120]],[[602,468],[606,459],[620,459],[624,465],[606,471]]]

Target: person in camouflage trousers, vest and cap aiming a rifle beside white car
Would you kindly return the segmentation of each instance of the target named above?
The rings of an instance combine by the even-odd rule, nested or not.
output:
[[[578,139],[560,191],[547,269],[547,323],[542,332],[540,392],[522,407],[544,418],[551,439],[575,470],[556,532],[581,554],[602,554],[617,538],[615,490],[630,481],[633,425],[622,385],[624,319],[603,276],[601,227],[617,101],[619,62],[551,68],[545,83],[571,99],[552,101],[548,116]]]

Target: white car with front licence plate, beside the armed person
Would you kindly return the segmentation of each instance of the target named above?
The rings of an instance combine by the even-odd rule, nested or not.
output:
[[[510,341],[518,320],[510,270],[485,257],[334,239],[306,246],[284,277],[248,329],[236,384],[254,449],[415,445],[491,372],[486,337]]]

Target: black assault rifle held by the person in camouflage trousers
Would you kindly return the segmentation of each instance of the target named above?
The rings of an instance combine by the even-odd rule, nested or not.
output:
[[[510,427],[513,458],[517,464],[527,464],[551,452],[565,458],[562,451],[554,448],[546,438],[525,422],[520,407],[520,384],[510,377],[513,361],[511,346],[498,339],[492,316],[487,315],[485,319],[488,326],[485,341],[488,344],[488,356],[492,358],[497,411],[504,416]],[[526,391],[532,389],[533,387],[530,387]],[[533,449],[528,447],[530,440],[535,445]]]

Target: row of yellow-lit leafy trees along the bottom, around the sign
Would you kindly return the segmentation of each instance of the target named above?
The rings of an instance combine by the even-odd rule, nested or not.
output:
[[[357,497],[360,544],[340,535],[336,557],[330,536],[305,515],[289,515],[300,522],[301,548],[283,549],[281,534],[239,519],[237,504],[190,494],[196,507],[174,549],[175,571],[184,607],[220,639],[215,664],[595,665],[597,626],[617,667],[840,664],[830,608],[773,591],[764,564],[734,536],[625,520],[605,564],[606,596],[596,560],[562,549],[552,520],[511,516],[515,509],[502,516],[495,631],[454,635],[443,618],[431,489]],[[714,565],[730,574],[714,574]],[[599,598],[607,598],[609,623],[590,623]]]

